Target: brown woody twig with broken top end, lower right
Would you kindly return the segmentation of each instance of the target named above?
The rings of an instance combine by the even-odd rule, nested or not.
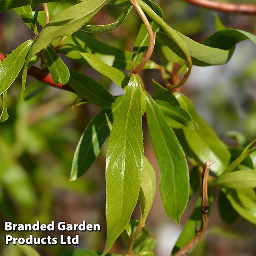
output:
[[[181,248],[178,252],[174,254],[174,256],[184,256],[187,255],[187,252],[199,242],[199,240],[202,238],[204,233],[207,230],[208,226],[208,174],[209,174],[209,168],[210,168],[210,160],[207,160],[203,169],[202,173],[202,203],[201,203],[201,228],[200,230],[196,229],[196,237],[193,238],[186,246]]]

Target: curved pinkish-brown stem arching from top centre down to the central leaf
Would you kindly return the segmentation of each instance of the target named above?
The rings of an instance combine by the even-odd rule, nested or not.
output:
[[[155,46],[155,34],[152,31],[150,23],[147,20],[146,15],[144,14],[142,8],[137,3],[137,0],[130,0],[130,2],[134,6],[134,8],[137,10],[137,13],[140,15],[140,17],[142,18],[142,21],[145,24],[146,30],[147,30],[148,35],[149,35],[149,46],[147,48],[146,55],[142,59],[142,62],[137,66],[137,68],[133,69],[133,71],[131,72],[131,73],[137,74],[138,72],[140,72],[142,70],[142,68],[145,66],[145,64],[150,59],[150,57],[153,53],[154,46]]]

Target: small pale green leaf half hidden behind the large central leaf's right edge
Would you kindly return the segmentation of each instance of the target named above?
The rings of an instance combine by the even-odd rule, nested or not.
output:
[[[151,210],[151,206],[155,199],[155,170],[146,156],[143,157],[143,170],[141,190],[139,194],[140,206],[141,206],[141,221],[142,226],[145,226],[146,218]]]

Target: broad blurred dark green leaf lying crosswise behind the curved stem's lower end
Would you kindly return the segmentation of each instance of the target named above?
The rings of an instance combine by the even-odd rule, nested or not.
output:
[[[117,69],[132,69],[132,56],[133,54],[127,50],[120,50],[113,46],[107,45],[91,35],[79,30],[75,32],[72,36],[69,36],[65,40],[65,44],[60,48],[59,51],[66,54],[69,58],[78,61],[81,64],[87,65],[87,62],[78,54],[77,50],[74,50],[70,45],[78,45],[83,51],[93,53],[98,59],[100,59],[105,64],[112,66]],[[158,64],[149,60],[144,66],[144,69],[156,69]]]

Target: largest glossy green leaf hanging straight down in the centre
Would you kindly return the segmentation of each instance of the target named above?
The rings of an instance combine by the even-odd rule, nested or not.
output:
[[[114,119],[106,155],[105,253],[129,223],[138,200],[143,163],[141,112],[140,79],[132,74]]]

